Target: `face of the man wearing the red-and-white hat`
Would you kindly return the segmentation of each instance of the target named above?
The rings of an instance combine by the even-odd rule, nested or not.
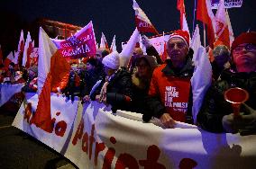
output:
[[[169,39],[167,53],[174,66],[183,66],[188,53],[186,42],[178,37]]]

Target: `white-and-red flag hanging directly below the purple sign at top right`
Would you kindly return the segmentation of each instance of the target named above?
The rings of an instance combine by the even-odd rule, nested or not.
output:
[[[226,13],[224,10],[224,0],[220,0],[217,13],[215,15],[215,46],[225,45],[230,48],[229,30],[226,22]]]

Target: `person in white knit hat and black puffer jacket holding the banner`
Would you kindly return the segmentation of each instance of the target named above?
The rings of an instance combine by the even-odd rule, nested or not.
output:
[[[92,101],[111,104],[112,111],[129,110],[133,98],[132,76],[125,67],[120,67],[119,53],[114,51],[103,58],[105,80],[102,80],[94,93]]]

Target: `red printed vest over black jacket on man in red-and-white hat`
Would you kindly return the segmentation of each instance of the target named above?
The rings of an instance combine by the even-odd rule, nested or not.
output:
[[[157,67],[151,78],[151,86],[147,98],[150,112],[144,114],[143,120],[151,120],[151,117],[160,118],[163,113],[169,113],[174,120],[187,121],[187,115],[191,120],[192,94],[190,78],[194,67],[191,58],[187,57],[186,65],[177,69],[171,61]]]

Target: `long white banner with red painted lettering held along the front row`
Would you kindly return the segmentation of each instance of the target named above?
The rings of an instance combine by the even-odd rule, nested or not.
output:
[[[55,95],[51,96],[51,100],[61,99]],[[32,101],[32,97],[28,100]],[[71,104],[67,102],[65,106],[62,105],[61,110],[67,110]],[[77,105],[78,109],[73,111],[61,111],[63,116],[59,115],[55,122],[56,124],[60,120],[65,120],[68,126],[72,126],[70,130],[67,128],[64,137],[61,138],[54,132],[44,132],[45,135],[37,139],[56,149],[79,168],[169,169],[256,166],[256,136],[214,134],[182,123],[177,126],[180,128],[162,129],[152,123],[143,123],[142,116],[133,112],[119,111],[114,115],[109,107],[97,102],[84,105],[79,102]],[[51,106],[55,107],[55,104]],[[73,103],[72,106],[76,104]],[[23,128],[29,124],[23,118],[21,110],[13,125],[28,132],[29,128],[35,127],[30,125],[29,128]],[[73,114],[76,114],[76,117]],[[35,137],[36,132],[43,133],[35,129],[28,133]],[[67,135],[69,137],[65,137]]]

